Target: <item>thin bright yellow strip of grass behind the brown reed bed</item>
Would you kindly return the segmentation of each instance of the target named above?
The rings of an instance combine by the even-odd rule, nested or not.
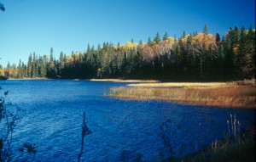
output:
[[[229,86],[225,82],[156,82],[129,84],[130,87],[222,87]]]

